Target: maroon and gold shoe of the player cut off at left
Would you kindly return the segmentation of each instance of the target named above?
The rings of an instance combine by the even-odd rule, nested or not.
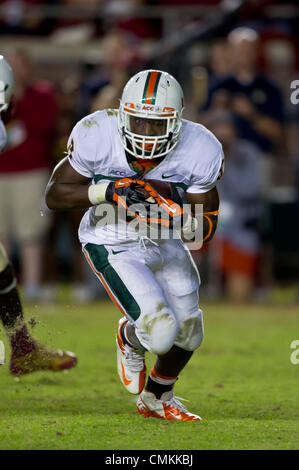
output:
[[[10,358],[10,373],[13,375],[24,375],[30,372],[50,370],[58,372],[70,369],[77,364],[77,357],[70,351],[52,351],[45,346],[33,342],[34,349],[23,355],[16,356],[13,352]]]

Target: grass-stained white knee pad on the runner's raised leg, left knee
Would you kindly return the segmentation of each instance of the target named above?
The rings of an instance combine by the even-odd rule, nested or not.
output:
[[[155,314],[142,316],[136,325],[136,336],[152,354],[166,354],[173,346],[178,332],[178,322],[173,313],[163,309]]]

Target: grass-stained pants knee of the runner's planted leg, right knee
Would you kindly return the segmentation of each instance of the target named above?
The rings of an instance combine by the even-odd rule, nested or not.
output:
[[[181,322],[175,345],[186,351],[195,351],[201,345],[203,335],[202,311],[198,309]]]

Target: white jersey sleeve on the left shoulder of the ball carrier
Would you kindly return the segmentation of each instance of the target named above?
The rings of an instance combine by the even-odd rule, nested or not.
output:
[[[67,157],[70,165],[77,173],[86,176],[86,178],[93,178],[94,155],[92,149],[89,148],[81,122],[75,125],[69,136]]]

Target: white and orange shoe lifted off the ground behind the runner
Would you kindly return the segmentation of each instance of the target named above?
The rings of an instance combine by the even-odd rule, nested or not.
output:
[[[121,336],[121,328],[128,320],[123,317],[118,322],[116,334],[117,372],[128,392],[138,394],[145,385],[146,365],[144,350],[131,348]]]

